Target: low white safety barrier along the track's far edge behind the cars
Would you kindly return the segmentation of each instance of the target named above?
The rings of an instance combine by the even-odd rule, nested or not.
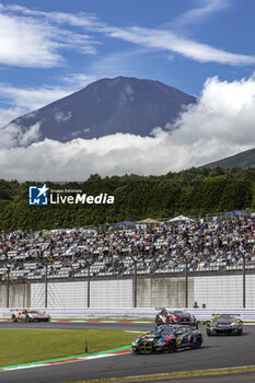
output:
[[[7,307],[0,307],[0,317],[10,318],[11,310]],[[21,307],[22,309],[22,307]],[[160,309],[152,307],[124,307],[124,309],[39,309],[40,311],[46,310],[53,318],[62,320],[77,320],[77,318],[92,318],[92,320],[154,320],[155,314]],[[181,309],[177,309],[181,310]],[[211,318],[212,314],[235,314],[245,322],[255,322],[255,309],[184,309],[189,313],[194,314],[198,321],[208,321]]]

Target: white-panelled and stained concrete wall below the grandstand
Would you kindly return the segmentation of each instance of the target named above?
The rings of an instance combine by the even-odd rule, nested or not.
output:
[[[246,307],[255,307],[255,274],[246,275]],[[48,307],[134,307],[134,279],[91,280],[90,302],[88,281],[48,281]],[[188,278],[188,306],[243,307],[243,276],[197,276]],[[90,303],[90,304],[88,304]],[[151,277],[137,279],[138,307],[184,307],[186,283],[184,277]],[[7,283],[0,283],[0,307],[7,306]],[[45,283],[11,283],[10,307],[44,307]]]

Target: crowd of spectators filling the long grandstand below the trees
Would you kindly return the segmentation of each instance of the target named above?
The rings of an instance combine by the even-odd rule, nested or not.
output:
[[[211,222],[1,232],[0,278],[48,278],[204,271],[255,265],[255,218]],[[136,264],[136,265],[135,265]]]

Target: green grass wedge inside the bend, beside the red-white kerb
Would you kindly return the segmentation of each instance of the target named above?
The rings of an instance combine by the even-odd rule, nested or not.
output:
[[[140,334],[140,333],[138,333]],[[106,351],[131,344],[136,333],[118,330],[0,330],[0,367]]]

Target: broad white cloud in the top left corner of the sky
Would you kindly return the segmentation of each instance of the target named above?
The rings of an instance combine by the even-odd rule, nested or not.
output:
[[[3,65],[50,68],[65,62],[63,49],[85,55],[96,53],[98,42],[84,31],[59,27],[54,13],[3,4],[0,10],[0,62]]]

